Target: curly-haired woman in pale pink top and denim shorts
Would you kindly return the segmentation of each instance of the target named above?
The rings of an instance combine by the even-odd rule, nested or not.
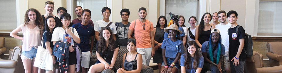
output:
[[[39,11],[30,8],[24,16],[24,24],[14,29],[10,36],[23,41],[21,59],[24,64],[25,73],[37,73],[38,67],[33,67],[37,47],[40,44],[40,38],[43,34],[43,20]],[[24,37],[16,35],[23,32]]]

